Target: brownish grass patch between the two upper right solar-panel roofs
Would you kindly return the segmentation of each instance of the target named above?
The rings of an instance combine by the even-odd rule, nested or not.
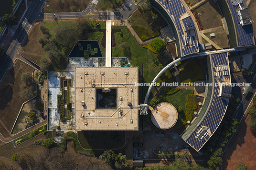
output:
[[[197,13],[202,14],[200,20],[203,25],[203,30],[222,26],[221,11],[219,10],[218,5],[214,4],[211,0],[203,3],[195,10]]]

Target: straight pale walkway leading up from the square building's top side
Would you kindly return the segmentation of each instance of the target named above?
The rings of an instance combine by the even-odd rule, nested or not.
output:
[[[106,21],[106,67],[111,67],[111,25],[112,21]]]

